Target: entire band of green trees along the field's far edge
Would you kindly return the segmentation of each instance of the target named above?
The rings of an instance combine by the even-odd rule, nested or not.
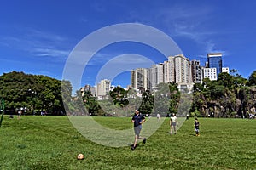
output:
[[[69,81],[12,71],[0,76],[0,98],[4,99],[7,110],[23,108],[26,114],[46,111],[52,115],[130,116],[139,109],[148,116],[183,111],[190,116],[211,116],[213,113],[228,117],[247,116],[256,108],[255,86],[256,71],[246,79],[231,70],[230,74],[220,73],[217,81],[205,78],[202,83],[195,83],[193,99],[189,98],[191,94],[182,94],[176,83],[160,83],[156,92],[144,90],[137,96],[135,89],[116,87],[109,92],[109,99],[97,100],[90,91],[82,96],[77,90],[72,96],[73,87]]]

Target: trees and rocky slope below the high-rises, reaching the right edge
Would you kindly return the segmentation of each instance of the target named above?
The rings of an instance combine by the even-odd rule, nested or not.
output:
[[[205,78],[202,83],[195,83],[192,97],[186,92],[182,94],[175,83],[160,83],[156,92],[145,90],[140,97],[134,89],[116,87],[109,93],[109,99],[97,101],[90,91],[80,98],[91,115],[107,112],[113,116],[122,112],[129,116],[139,109],[145,115],[168,116],[179,111],[183,116],[189,112],[189,116],[247,117],[256,113],[255,86],[256,71],[246,79],[233,69],[230,74],[220,73],[216,81]]]

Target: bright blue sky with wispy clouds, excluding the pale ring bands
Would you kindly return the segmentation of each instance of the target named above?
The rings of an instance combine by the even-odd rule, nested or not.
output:
[[[165,32],[186,57],[201,60],[201,65],[207,53],[223,53],[224,66],[247,78],[256,70],[255,8],[251,0],[1,1],[0,75],[24,71],[61,80],[69,54],[85,36],[105,26],[139,23]],[[143,55],[156,63],[165,60],[147,45],[111,44],[87,64],[81,86],[94,85],[97,71],[121,54]],[[125,64],[133,65],[130,61]],[[125,88],[130,73],[120,73],[113,84]]]

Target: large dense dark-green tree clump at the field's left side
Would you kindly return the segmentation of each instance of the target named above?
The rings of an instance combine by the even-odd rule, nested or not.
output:
[[[65,115],[61,97],[61,81],[42,75],[12,71],[0,77],[0,98],[4,99],[6,112],[14,114]]]

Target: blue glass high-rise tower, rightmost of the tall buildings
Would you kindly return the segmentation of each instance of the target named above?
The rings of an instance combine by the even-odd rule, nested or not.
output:
[[[207,61],[208,61],[209,68],[216,68],[216,73],[218,77],[218,74],[222,72],[222,54],[221,53],[207,54]]]

